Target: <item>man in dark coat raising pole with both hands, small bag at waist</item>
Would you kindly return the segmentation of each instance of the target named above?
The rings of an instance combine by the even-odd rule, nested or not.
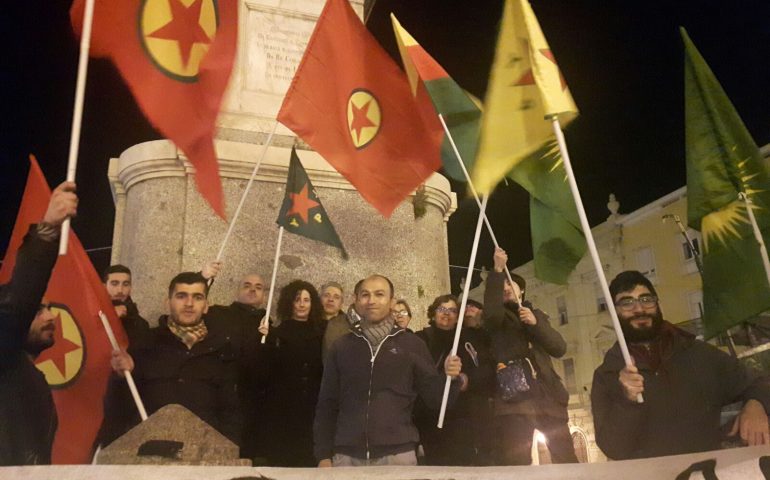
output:
[[[553,463],[577,463],[567,424],[569,394],[551,362],[551,357],[566,353],[567,344],[551,327],[548,315],[524,300],[524,279],[515,274],[511,274],[513,284],[505,279],[507,261],[505,251],[496,249],[494,271],[489,272],[484,291],[484,328],[489,332],[498,378],[505,378],[504,368],[522,367],[532,370],[536,378],[528,398],[523,399],[505,398],[498,382],[496,461],[499,465],[532,463],[537,428],[547,439]]]

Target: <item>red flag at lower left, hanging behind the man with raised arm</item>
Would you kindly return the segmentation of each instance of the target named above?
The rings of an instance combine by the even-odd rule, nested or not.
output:
[[[29,225],[43,218],[51,189],[34,157],[11,242],[0,269],[0,283],[10,280]],[[92,446],[102,422],[102,399],[107,389],[110,346],[99,310],[110,320],[118,342],[127,344],[123,326],[107,291],[74,232],[67,255],[60,256],[48,282],[46,297],[56,316],[56,341],[35,365],[51,386],[59,428],[53,444],[53,463],[90,463]]]

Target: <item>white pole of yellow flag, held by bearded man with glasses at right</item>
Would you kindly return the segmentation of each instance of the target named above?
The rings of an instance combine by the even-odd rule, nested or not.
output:
[[[594,242],[593,233],[591,233],[591,226],[588,224],[588,218],[586,217],[585,208],[583,207],[583,200],[580,198],[580,190],[578,190],[577,182],[575,181],[575,173],[572,171],[572,163],[569,160],[569,152],[567,151],[567,143],[564,140],[564,132],[561,130],[561,124],[559,123],[558,115],[554,115],[551,123],[553,125],[553,132],[556,134],[556,140],[559,142],[559,150],[561,151],[561,158],[564,162],[564,169],[567,171],[567,179],[569,180],[569,187],[572,191],[572,198],[575,200],[575,207],[577,207],[578,216],[580,217],[580,226],[583,229],[583,233],[588,243],[588,251],[591,253],[591,260],[596,270],[596,275],[599,278],[599,284],[602,287],[602,293],[607,303],[607,309],[610,311],[610,318],[612,319],[612,326],[615,329],[615,335],[618,337],[618,345],[620,345],[620,351],[623,353],[623,360],[626,362],[626,366],[633,365],[631,354],[628,352],[628,344],[626,344],[626,337],[623,335],[623,329],[620,327],[620,321],[618,320],[618,312],[615,310],[615,302],[612,295],[610,295],[610,289],[607,286],[607,277],[604,276],[604,268],[602,268],[601,259],[599,259],[599,252],[596,250],[596,242]],[[641,393],[636,396],[638,403],[644,402],[644,397]]]

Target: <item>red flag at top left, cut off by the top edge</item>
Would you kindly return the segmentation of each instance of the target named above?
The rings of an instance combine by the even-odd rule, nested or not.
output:
[[[70,17],[82,29],[85,0]],[[235,58],[237,0],[96,0],[91,53],[112,59],[149,121],[195,166],[225,217],[214,129]]]

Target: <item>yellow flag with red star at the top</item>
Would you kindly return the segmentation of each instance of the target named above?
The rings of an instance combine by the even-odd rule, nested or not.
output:
[[[518,162],[578,113],[556,59],[527,0],[506,0],[484,102],[481,140],[473,169],[480,193],[489,193]]]

